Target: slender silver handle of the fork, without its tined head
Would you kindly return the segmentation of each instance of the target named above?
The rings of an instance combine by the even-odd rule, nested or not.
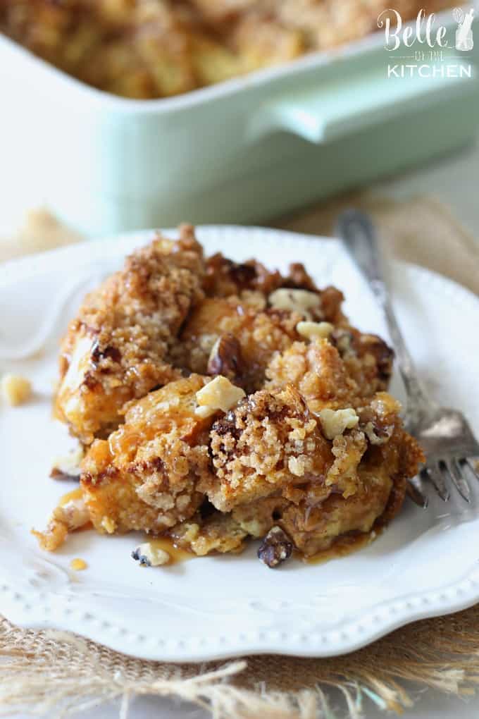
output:
[[[353,261],[368,280],[388,325],[391,342],[407,395],[407,413],[409,416],[424,413],[432,409],[432,401],[419,382],[409,350],[399,329],[399,324],[391,303],[386,280],[384,279],[383,258],[379,249],[376,232],[371,219],[355,209],[342,212],[338,217],[336,234],[343,240]]]

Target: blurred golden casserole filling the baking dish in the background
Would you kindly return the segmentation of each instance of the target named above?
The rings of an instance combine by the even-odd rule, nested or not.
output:
[[[404,22],[450,0],[396,0]],[[385,0],[2,0],[0,32],[91,86],[173,96],[358,40]]]

